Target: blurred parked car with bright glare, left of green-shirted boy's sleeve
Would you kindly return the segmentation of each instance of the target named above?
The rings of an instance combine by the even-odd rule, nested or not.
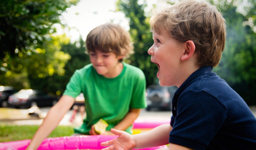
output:
[[[20,107],[20,106],[53,106],[58,102],[58,99],[52,97],[39,90],[20,90],[17,93],[10,95],[8,103],[10,106]]]

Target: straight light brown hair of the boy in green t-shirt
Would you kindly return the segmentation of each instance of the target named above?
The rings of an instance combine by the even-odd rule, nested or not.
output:
[[[117,56],[129,57],[133,53],[131,36],[120,25],[106,23],[95,27],[86,38],[88,52],[114,52]],[[120,60],[122,61],[122,60]]]

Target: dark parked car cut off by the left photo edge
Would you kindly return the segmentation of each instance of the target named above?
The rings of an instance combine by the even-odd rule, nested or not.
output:
[[[0,107],[8,107],[8,98],[10,95],[18,92],[11,86],[0,86]]]

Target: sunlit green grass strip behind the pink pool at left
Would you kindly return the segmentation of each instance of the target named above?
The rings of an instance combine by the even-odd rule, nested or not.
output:
[[[39,125],[0,125],[0,142],[32,139]],[[57,126],[48,137],[70,136],[74,133],[72,126]]]

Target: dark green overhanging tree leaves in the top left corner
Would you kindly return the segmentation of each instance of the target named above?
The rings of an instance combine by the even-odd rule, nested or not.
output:
[[[78,1],[2,0],[0,2],[0,58],[14,57],[18,52],[34,51],[54,33],[52,25],[59,16]],[[16,50],[15,50],[16,49]]]

